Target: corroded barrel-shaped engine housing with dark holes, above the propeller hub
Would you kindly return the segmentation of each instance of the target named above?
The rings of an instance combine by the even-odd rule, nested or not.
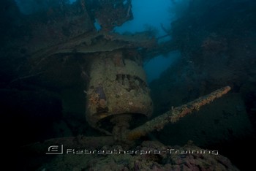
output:
[[[153,105],[138,53],[116,50],[94,56],[87,97],[86,119],[97,129],[110,130],[116,115],[131,115],[132,123],[150,117]]]

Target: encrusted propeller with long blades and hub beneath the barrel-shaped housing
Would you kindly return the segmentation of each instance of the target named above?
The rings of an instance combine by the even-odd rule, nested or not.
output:
[[[220,88],[217,91],[212,92],[206,96],[202,96],[198,99],[195,99],[192,102],[181,105],[180,107],[175,107],[172,110],[167,111],[162,115],[159,115],[157,118],[147,121],[141,126],[138,126],[135,129],[129,130],[129,115],[132,113],[126,113],[124,115],[116,115],[116,113],[104,113],[104,115],[115,115],[111,118],[112,121],[115,121],[115,126],[113,126],[113,134],[106,137],[61,137],[53,138],[50,140],[45,140],[42,142],[37,142],[31,145],[26,146],[30,151],[34,153],[43,153],[50,145],[67,145],[74,146],[77,145],[80,148],[99,148],[104,145],[131,145],[133,141],[139,139],[140,137],[146,136],[150,132],[155,130],[159,131],[167,123],[176,123],[180,118],[192,113],[194,110],[199,110],[205,104],[212,102],[214,99],[221,97],[227,92],[230,91],[230,86]],[[100,105],[100,104],[99,104]],[[127,118],[129,118],[127,120]],[[106,126],[106,125],[105,125]]]

